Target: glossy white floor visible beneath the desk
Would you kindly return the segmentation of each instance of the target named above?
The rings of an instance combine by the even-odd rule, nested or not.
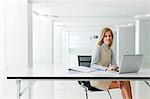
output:
[[[23,82],[22,88],[27,84]],[[16,82],[0,81],[0,99],[16,99]],[[122,99],[120,90],[110,90],[113,99]],[[28,98],[28,91],[21,99]],[[37,81],[33,86],[33,99],[85,99],[85,93],[77,81]],[[107,92],[89,92],[89,99],[109,99]]]

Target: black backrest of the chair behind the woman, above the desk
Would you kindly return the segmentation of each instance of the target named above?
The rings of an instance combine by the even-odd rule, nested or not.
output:
[[[90,67],[91,64],[91,56],[78,55],[78,65]]]

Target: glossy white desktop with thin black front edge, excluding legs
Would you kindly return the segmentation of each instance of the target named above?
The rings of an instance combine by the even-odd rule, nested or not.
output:
[[[16,68],[8,69],[7,79],[52,79],[52,80],[71,80],[71,79],[107,79],[107,80],[150,80],[150,69],[140,69],[138,73],[114,74],[106,71],[94,71],[90,73],[51,71],[48,67],[36,68]]]

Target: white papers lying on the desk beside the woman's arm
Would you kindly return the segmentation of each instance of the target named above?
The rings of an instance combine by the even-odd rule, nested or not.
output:
[[[89,73],[89,72],[96,71],[97,69],[85,67],[85,66],[75,66],[75,67],[69,67],[69,70],[79,71],[79,72],[83,72],[83,73]]]

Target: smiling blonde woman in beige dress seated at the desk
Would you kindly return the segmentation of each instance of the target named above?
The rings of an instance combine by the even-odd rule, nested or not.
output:
[[[113,43],[113,32],[110,28],[103,28],[100,38],[92,56],[91,67],[106,71],[117,68],[114,53],[111,49]],[[90,81],[93,87],[102,90],[120,88],[123,99],[132,99],[131,85],[129,81]]]

